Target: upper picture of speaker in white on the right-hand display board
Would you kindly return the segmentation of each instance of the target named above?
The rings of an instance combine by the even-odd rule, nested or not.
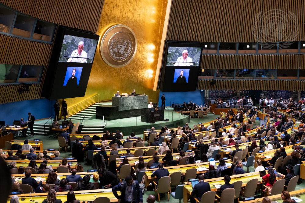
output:
[[[168,47],[166,65],[199,66],[201,47]]]

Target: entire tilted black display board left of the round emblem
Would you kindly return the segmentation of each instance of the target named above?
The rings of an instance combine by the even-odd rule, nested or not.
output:
[[[84,96],[99,36],[59,27],[42,96],[63,99]]]

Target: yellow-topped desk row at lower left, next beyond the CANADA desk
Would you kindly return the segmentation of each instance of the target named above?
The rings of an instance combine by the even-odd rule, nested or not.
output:
[[[77,175],[80,176],[85,176],[85,175],[92,175],[93,172],[81,172],[81,173],[77,173]],[[37,181],[37,183],[39,183],[40,181],[42,181],[42,184],[45,184],[45,181],[48,178],[48,173],[41,173],[41,174],[31,174],[32,178],[35,178],[35,180]],[[67,175],[71,175],[71,173],[56,173],[56,176],[59,180],[66,178]],[[25,177],[25,174],[11,174],[11,177],[15,179],[15,181],[20,182],[21,184],[21,179]]]

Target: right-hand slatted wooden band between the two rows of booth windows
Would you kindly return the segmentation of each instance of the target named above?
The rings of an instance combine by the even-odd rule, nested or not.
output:
[[[304,69],[305,54],[203,55],[200,69]]]

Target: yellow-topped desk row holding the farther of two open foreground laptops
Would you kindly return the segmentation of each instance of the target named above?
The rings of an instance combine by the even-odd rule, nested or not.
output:
[[[231,165],[232,165],[231,159],[227,159],[225,161],[226,161],[226,165],[228,167],[231,167]],[[219,163],[219,161],[216,161],[216,163]],[[209,170],[209,166],[210,166],[210,163],[205,162],[205,163],[193,163],[193,164],[188,164],[188,165],[168,166],[168,167],[164,167],[164,168],[166,168],[170,174],[180,171],[182,173],[182,176],[184,176],[186,173],[186,170],[191,169],[191,168],[196,168],[197,174],[206,173],[206,171]],[[217,166],[218,165],[216,165],[215,169],[217,169]],[[156,170],[157,170],[156,168],[145,170],[146,188],[149,186],[150,181],[156,181],[156,177],[152,177],[152,173]]]

